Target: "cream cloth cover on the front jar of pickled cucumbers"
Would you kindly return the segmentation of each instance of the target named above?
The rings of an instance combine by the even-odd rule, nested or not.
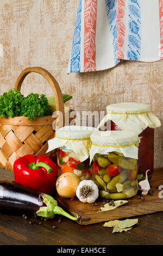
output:
[[[112,151],[122,153],[126,157],[138,159],[140,139],[132,131],[94,131],[91,135],[92,146],[90,162],[96,153],[108,154]]]

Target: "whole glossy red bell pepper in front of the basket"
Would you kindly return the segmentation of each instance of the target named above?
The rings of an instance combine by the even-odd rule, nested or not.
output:
[[[25,155],[14,162],[13,168],[15,182],[32,190],[52,194],[57,176],[57,166],[52,159]]]

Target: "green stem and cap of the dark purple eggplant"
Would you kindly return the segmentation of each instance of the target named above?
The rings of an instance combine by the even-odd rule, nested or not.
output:
[[[46,204],[46,206],[40,207],[38,211],[35,212],[37,216],[41,216],[44,218],[54,218],[55,214],[63,215],[67,218],[70,218],[72,221],[77,221],[78,218],[74,217],[70,214],[68,214],[66,211],[64,211],[62,208],[58,206],[58,203],[56,200],[54,200],[53,197],[49,196],[48,194],[41,193],[40,197],[43,198],[43,203]]]

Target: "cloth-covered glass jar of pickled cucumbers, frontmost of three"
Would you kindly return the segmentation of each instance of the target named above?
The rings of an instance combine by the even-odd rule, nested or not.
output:
[[[135,196],[139,137],[131,131],[95,131],[91,141],[93,181],[101,198],[118,200]]]

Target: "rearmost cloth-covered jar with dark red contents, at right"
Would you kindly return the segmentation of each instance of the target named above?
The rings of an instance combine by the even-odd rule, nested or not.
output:
[[[150,180],[154,169],[154,129],[161,126],[160,120],[142,103],[122,102],[106,107],[107,114],[98,125],[101,130],[134,131],[141,137],[139,145],[138,174]],[[105,125],[105,127],[104,127]]]

